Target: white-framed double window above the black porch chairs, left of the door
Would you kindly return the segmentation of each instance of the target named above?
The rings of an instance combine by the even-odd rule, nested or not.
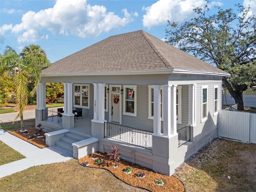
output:
[[[89,88],[89,84],[74,84],[74,106],[90,109]]]

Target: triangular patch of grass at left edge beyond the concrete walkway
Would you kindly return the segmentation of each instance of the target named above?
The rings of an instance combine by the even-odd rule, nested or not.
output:
[[[14,162],[20,159],[25,158],[22,154],[17,152],[16,150],[10,148],[4,142],[0,141],[0,165],[7,164],[10,162]]]

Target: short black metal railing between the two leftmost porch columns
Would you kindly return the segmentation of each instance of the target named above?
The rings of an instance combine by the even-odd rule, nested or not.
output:
[[[63,109],[63,106],[43,109],[43,121],[49,121],[62,125],[62,112],[58,112],[58,109],[61,108]]]

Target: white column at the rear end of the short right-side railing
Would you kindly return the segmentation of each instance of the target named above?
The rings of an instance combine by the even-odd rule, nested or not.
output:
[[[190,124],[191,126],[196,125],[195,89],[196,89],[196,84],[188,85],[188,124]]]

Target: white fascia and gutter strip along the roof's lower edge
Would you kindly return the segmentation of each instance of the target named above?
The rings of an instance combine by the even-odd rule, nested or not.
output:
[[[153,74],[194,74],[194,75],[211,75],[211,76],[230,76],[227,73],[213,73],[201,72],[192,70],[179,70],[179,69],[163,69],[163,70],[137,70],[137,71],[103,71],[103,72],[83,72],[83,73],[54,73],[54,74],[41,74],[41,77],[55,77],[55,76],[113,76],[113,75],[153,75]]]

